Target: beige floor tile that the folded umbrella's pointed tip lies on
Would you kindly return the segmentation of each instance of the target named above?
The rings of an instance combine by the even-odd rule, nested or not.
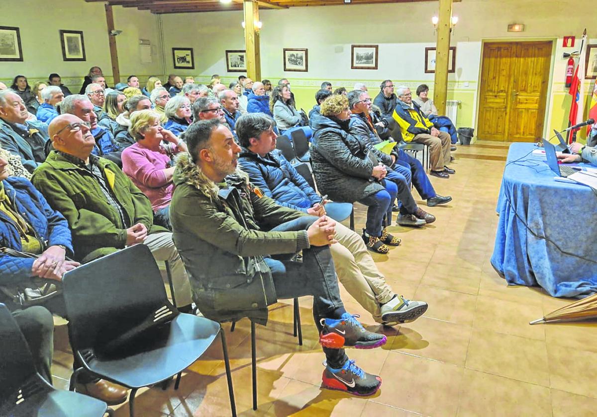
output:
[[[543,326],[531,326],[531,320],[540,318],[541,307],[496,298],[477,297],[475,329],[487,329],[530,339],[545,340]]]

